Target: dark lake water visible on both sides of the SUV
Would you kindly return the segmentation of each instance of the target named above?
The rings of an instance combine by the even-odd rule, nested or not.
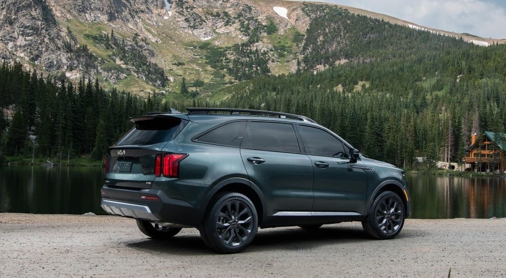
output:
[[[407,174],[411,218],[506,217],[506,178]],[[0,165],[0,212],[105,214],[100,167]]]

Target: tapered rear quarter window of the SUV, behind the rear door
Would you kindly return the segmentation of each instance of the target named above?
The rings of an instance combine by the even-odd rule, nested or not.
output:
[[[224,146],[239,147],[246,122],[231,122],[215,128],[198,137],[196,141]]]

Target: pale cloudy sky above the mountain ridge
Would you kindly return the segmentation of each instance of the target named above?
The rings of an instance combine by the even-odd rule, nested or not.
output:
[[[485,38],[506,38],[504,0],[320,0],[320,2],[386,14],[445,31],[470,33]]]

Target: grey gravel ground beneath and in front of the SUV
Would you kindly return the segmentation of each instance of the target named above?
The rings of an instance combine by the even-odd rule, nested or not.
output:
[[[0,277],[506,277],[506,218],[407,219],[394,240],[360,223],[260,229],[239,254],[209,251],[196,229],[146,238],[115,216],[0,213]]]

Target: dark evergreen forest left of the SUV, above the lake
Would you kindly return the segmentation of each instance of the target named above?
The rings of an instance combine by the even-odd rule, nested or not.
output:
[[[77,84],[23,70],[21,64],[0,68],[0,161],[32,157],[61,164],[90,156],[102,160],[133,124],[129,117],[167,111],[161,97],[147,100],[115,88],[105,91],[98,80]],[[11,118],[12,120],[8,120]]]

